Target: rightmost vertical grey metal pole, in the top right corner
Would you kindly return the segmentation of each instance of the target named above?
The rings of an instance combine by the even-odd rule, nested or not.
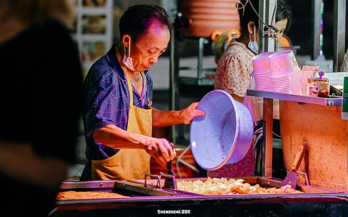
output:
[[[345,0],[334,0],[334,66],[338,72],[344,59],[345,42]]]

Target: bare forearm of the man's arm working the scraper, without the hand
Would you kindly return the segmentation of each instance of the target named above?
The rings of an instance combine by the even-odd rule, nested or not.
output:
[[[93,139],[118,149],[144,149],[146,136],[127,132],[115,125],[107,125],[93,132]]]

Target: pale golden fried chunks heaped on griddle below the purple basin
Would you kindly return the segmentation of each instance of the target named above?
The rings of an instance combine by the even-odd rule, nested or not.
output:
[[[205,182],[201,180],[196,180],[194,182],[178,181],[176,187],[179,190],[205,195],[303,193],[291,188],[290,185],[281,188],[262,188],[259,184],[251,186],[249,183],[245,183],[243,179],[227,180],[226,177],[222,177],[221,179],[211,179],[211,177],[208,177]]]

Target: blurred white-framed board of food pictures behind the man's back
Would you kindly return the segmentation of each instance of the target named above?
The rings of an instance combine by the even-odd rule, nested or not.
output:
[[[84,75],[113,43],[113,0],[76,0],[71,36],[79,47]]]

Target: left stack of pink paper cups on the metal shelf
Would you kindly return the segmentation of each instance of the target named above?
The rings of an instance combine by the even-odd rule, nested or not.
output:
[[[260,53],[259,55],[252,57],[252,66],[254,68],[254,78],[257,90],[273,91],[268,62],[268,56],[271,54],[274,54],[274,52]]]

